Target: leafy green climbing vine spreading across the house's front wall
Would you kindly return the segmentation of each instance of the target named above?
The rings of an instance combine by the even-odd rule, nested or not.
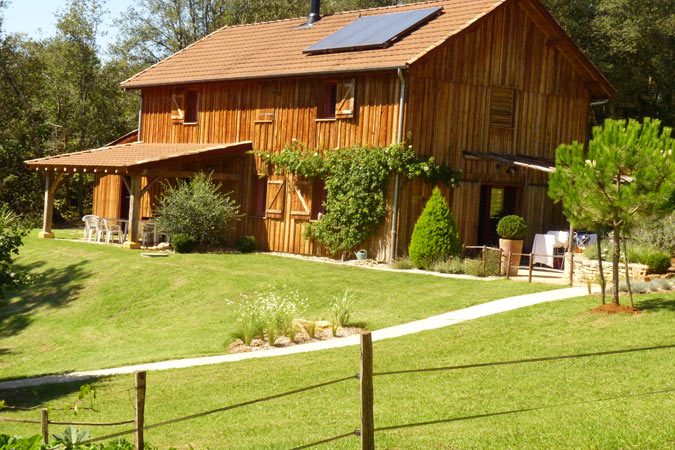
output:
[[[459,184],[461,174],[439,165],[434,158],[418,158],[412,146],[348,147],[322,153],[294,142],[281,153],[254,151],[264,174],[295,175],[325,179],[326,214],[310,223],[305,236],[322,243],[333,254],[353,250],[366,241],[384,221],[390,175],[423,177],[449,187]]]

